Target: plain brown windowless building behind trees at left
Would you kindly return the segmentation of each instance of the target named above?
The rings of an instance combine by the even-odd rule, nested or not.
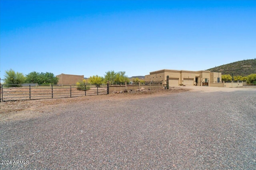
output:
[[[72,74],[60,74],[56,77],[59,78],[58,84],[71,85],[76,84],[76,82],[84,80],[84,75],[72,75]]]

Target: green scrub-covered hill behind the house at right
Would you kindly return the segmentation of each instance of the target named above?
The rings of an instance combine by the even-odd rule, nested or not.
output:
[[[230,74],[231,76],[248,76],[250,74],[256,74],[256,59],[236,61],[214,68],[209,68],[208,70],[211,72],[221,72],[222,75]]]

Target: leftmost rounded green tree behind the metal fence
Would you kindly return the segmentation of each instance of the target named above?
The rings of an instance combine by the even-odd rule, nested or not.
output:
[[[11,87],[19,87],[20,85],[16,84],[22,84],[25,82],[25,77],[22,73],[20,72],[15,72],[14,70],[6,70],[5,75],[5,84],[15,84],[15,85],[10,85]]]

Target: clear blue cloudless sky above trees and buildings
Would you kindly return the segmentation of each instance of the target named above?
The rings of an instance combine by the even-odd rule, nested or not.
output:
[[[144,76],[255,57],[256,0],[0,0],[1,78]]]

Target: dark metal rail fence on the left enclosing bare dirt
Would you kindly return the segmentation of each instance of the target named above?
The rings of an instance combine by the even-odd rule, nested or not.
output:
[[[50,98],[72,98],[108,94],[107,85],[20,85],[2,84],[0,102]]]

